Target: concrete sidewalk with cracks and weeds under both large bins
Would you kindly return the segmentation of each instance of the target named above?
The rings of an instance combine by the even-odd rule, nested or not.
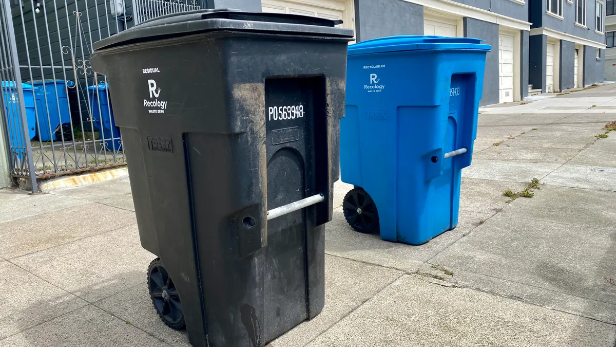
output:
[[[271,346],[615,345],[616,132],[595,135],[616,85],[481,112],[458,227],[389,243],[338,207],[325,309]],[[532,178],[532,198],[503,196]],[[0,346],[188,345],[150,302],[128,178],[0,190],[0,240]]]

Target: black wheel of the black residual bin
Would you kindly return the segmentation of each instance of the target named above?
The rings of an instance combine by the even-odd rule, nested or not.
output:
[[[156,313],[164,324],[175,330],[185,328],[180,296],[160,258],[154,259],[148,266],[148,290]]]

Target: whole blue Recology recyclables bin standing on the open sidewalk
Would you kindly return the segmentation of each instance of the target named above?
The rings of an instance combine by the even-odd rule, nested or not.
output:
[[[458,224],[490,46],[393,36],[349,46],[341,179],[355,230],[421,245]],[[459,150],[459,151],[458,151]]]

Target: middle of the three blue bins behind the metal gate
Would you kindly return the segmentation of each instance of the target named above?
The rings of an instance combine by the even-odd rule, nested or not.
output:
[[[71,122],[71,114],[68,106],[67,86],[73,82],[65,80],[34,81],[37,87],[35,94],[36,112],[38,114],[39,141],[61,141],[62,130],[58,127]],[[71,139],[64,139],[69,141]]]

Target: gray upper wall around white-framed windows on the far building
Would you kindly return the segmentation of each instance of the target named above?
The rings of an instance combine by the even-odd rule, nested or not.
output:
[[[550,28],[552,30],[560,31],[561,33],[567,33],[569,35],[578,36],[580,38],[586,38],[599,43],[604,43],[605,39],[602,34],[594,32],[595,28],[595,0],[586,1],[586,27],[582,28],[575,25],[575,1],[573,4],[562,0],[562,17],[564,19],[558,19],[546,13],[547,3],[549,0],[532,0],[530,5],[530,22],[532,22],[531,28]],[[605,14],[605,3],[603,6],[603,13]],[[605,20],[604,20],[605,22]],[[605,24],[605,23],[604,23]]]

